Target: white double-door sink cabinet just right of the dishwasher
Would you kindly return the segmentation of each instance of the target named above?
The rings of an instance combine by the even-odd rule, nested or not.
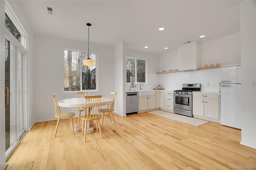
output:
[[[139,111],[156,108],[155,96],[140,96]]]

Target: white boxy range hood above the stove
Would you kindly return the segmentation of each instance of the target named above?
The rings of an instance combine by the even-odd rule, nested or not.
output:
[[[201,49],[198,42],[190,42],[178,47],[179,71],[194,71],[201,66]]]

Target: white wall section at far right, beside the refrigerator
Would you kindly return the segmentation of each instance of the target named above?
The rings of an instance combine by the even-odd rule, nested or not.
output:
[[[242,64],[242,135],[241,144],[256,148],[256,1],[240,3]]]

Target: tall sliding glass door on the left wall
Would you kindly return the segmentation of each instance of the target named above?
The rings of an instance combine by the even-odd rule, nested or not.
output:
[[[5,39],[5,139],[6,157],[24,135],[24,52]]]

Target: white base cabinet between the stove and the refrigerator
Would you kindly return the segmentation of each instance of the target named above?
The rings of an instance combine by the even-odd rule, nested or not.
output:
[[[220,94],[193,92],[192,107],[194,117],[220,122]]]

